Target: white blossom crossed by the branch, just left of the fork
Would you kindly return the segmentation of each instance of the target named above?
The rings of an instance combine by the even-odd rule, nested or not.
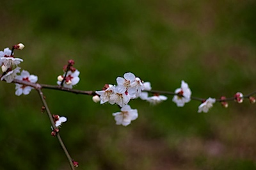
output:
[[[36,75],[30,75],[29,72],[26,70],[22,70],[20,75],[17,75],[17,77],[15,77],[15,79],[18,79],[20,81],[28,81],[28,82],[35,83],[38,80],[38,77]],[[24,95],[28,95],[30,93],[31,89],[33,89],[31,86],[25,86],[23,84],[16,83],[15,85],[16,85],[15,95],[17,95],[17,96],[22,95],[22,93]]]

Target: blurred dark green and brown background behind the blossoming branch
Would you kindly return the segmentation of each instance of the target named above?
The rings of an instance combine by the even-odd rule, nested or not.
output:
[[[38,82],[56,84],[68,59],[81,81],[101,89],[132,72],[153,89],[188,82],[193,96],[232,97],[255,90],[256,1],[1,1],[0,47],[26,45],[15,56]],[[115,105],[44,89],[53,114],[67,116],[61,137],[77,169],[256,169],[255,105],[200,102],[178,108],[130,102],[138,120],[115,125]],[[0,84],[0,169],[70,169],[36,91],[15,96]]]

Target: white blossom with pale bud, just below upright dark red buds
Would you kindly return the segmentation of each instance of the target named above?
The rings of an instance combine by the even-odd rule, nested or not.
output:
[[[63,83],[63,87],[72,89],[72,87],[80,81],[80,78],[78,77],[79,73],[80,72],[78,70],[76,70],[75,72],[68,71],[67,77],[65,78],[65,81]],[[64,76],[65,76],[65,73],[62,77],[64,78]],[[61,81],[57,81],[57,84],[60,85]]]

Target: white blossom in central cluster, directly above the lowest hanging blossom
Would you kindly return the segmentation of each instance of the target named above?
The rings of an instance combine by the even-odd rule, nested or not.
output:
[[[120,93],[118,89],[115,88],[114,93],[109,98],[109,104],[118,104],[120,107],[124,107],[124,105],[128,104],[131,100],[130,96],[125,93]]]

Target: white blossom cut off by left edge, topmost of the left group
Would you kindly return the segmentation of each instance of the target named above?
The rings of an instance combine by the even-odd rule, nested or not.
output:
[[[12,50],[5,48],[4,51],[0,51],[0,64],[10,68],[11,66],[17,66],[23,59],[13,58]]]

